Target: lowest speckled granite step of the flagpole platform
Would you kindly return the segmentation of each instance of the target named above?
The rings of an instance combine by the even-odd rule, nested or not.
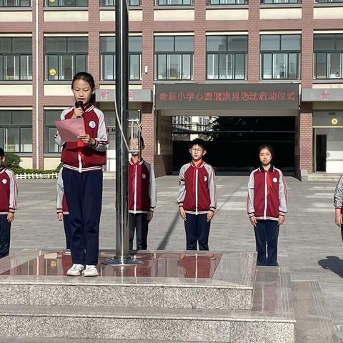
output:
[[[289,274],[280,267],[258,268],[251,310],[0,306],[2,337],[294,343],[294,325]]]

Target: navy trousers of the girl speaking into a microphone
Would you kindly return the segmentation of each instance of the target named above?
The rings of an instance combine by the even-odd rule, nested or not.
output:
[[[79,173],[64,168],[62,177],[69,209],[71,259],[77,264],[97,264],[102,171]]]

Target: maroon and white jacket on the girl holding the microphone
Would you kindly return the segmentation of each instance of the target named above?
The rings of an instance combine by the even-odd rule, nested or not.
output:
[[[91,103],[85,104],[82,109],[84,110],[84,129],[86,134],[95,139],[95,146],[86,145],[81,141],[64,142],[58,132],[55,136],[56,144],[63,146],[61,161],[64,168],[79,173],[101,170],[102,166],[106,164],[106,149],[109,145],[102,111]],[[71,119],[73,114],[74,106],[62,111],[61,120]]]

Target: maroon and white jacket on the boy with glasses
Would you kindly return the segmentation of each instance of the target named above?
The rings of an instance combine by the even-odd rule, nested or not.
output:
[[[211,165],[200,162],[184,164],[180,169],[179,207],[190,214],[206,214],[217,209],[216,176]]]

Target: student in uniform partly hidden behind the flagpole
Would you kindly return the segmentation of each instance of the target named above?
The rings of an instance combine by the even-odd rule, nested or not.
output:
[[[141,138],[141,149],[144,149],[143,138]],[[133,249],[135,232],[136,249],[147,249],[149,222],[154,217],[155,207],[156,182],[154,168],[144,159],[139,161],[138,152],[134,152],[129,160],[130,250]]]

